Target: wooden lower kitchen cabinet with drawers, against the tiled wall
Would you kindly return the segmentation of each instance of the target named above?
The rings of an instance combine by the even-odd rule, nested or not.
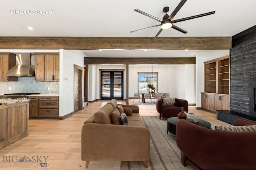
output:
[[[59,117],[59,96],[36,96],[38,103],[31,100],[30,117]],[[37,105],[36,105],[37,104]]]

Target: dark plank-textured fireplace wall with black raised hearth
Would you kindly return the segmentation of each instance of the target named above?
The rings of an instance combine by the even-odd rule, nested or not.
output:
[[[232,36],[230,110],[217,114],[230,124],[238,118],[256,121],[256,25]]]

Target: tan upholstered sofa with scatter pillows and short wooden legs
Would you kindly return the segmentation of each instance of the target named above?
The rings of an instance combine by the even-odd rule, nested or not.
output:
[[[118,111],[117,106],[116,100],[111,100],[84,122],[81,158],[86,168],[90,161],[142,161],[147,168],[150,133],[142,123],[139,107],[122,105],[124,110],[132,109],[132,115],[127,116],[128,125],[115,125],[111,114]]]

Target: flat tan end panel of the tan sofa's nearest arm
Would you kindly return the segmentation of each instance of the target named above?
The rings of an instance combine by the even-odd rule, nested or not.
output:
[[[82,160],[148,161],[150,133],[145,127],[86,123],[82,127]]]

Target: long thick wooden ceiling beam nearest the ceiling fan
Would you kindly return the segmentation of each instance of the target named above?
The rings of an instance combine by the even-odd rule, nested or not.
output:
[[[0,49],[231,49],[232,37],[0,37]]]

